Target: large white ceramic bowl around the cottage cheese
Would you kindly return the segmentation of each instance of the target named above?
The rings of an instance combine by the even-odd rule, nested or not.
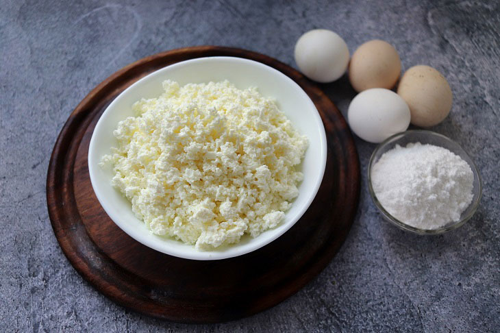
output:
[[[299,196],[286,212],[285,220],[256,238],[242,237],[240,243],[218,247],[213,251],[198,251],[179,240],[152,234],[145,223],[137,219],[132,205],[111,185],[112,170],[98,166],[101,158],[110,153],[117,142],[112,134],[118,121],[132,116],[132,104],[142,97],[159,97],[165,79],[188,83],[218,82],[224,79],[237,88],[257,86],[266,97],[275,97],[279,108],[292,121],[296,130],[309,138],[309,147],[301,164],[304,175]],[[318,192],[327,158],[325,128],[311,99],[292,79],[283,73],[252,60],[233,57],[198,58],[179,62],[143,77],[108,106],[99,119],[88,149],[88,170],[97,199],[110,218],[129,236],[152,249],[195,260],[216,260],[247,254],[271,243],[300,219]]]

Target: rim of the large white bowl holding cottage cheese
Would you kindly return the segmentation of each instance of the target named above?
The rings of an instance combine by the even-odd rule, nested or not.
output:
[[[160,72],[166,71],[166,69],[172,69],[172,68],[175,68],[177,66],[184,66],[184,65],[191,63],[191,62],[205,62],[205,61],[210,62],[210,61],[214,61],[214,60],[215,61],[216,60],[225,60],[225,61],[232,61],[232,62],[247,63],[247,64],[250,64],[251,66],[260,66],[262,69],[265,69],[266,71],[271,72],[272,75],[277,75],[278,77],[282,77],[282,79],[284,79],[285,81],[288,81],[291,84],[291,86],[295,90],[297,90],[297,93],[299,95],[302,95],[302,98],[305,99],[306,103],[310,104],[310,106],[312,107],[313,110],[316,110],[316,112],[312,112],[313,114],[311,114],[310,116],[312,116],[312,118],[315,119],[316,125],[318,125],[317,126],[318,130],[320,130],[320,134],[319,134],[320,140],[317,143],[320,147],[319,148],[319,151],[320,151],[319,159],[321,159],[320,163],[318,163],[318,167],[319,167],[318,177],[316,179],[314,186],[312,187],[312,190],[310,191],[310,195],[308,195],[308,197],[306,197],[306,199],[304,200],[303,206],[297,212],[297,214],[295,214],[295,216],[292,217],[292,219],[290,219],[290,222],[288,222],[286,224],[286,227],[283,227],[282,229],[279,230],[279,232],[275,233],[271,237],[262,238],[260,241],[255,242],[255,244],[253,246],[249,246],[247,248],[240,249],[239,251],[238,251],[238,249],[236,249],[236,251],[231,251],[230,253],[227,253],[227,251],[198,251],[198,250],[195,250],[194,245],[190,246],[190,249],[192,249],[192,251],[184,251],[184,250],[179,250],[179,249],[169,249],[168,246],[166,246],[166,247],[165,246],[156,246],[155,243],[151,241],[153,236],[156,236],[156,235],[152,234],[151,230],[149,230],[149,232],[150,232],[150,234],[148,235],[149,237],[140,236],[138,234],[138,232],[136,232],[136,230],[134,230],[135,229],[134,226],[127,225],[127,223],[124,223],[123,221],[121,221],[120,217],[115,216],[115,214],[113,214],[110,211],[110,209],[107,208],[107,206],[108,206],[107,200],[105,199],[105,197],[103,197],[103,194],[100,193],[99,190],[96,190],[95,184],[97,184],[97,180],[95,179],[95,177],[96,177],[95,176],[95,168],[98,168],[97,162],[99,162],[99,161],[96,162],[94,160],[94,158],[92,157],[93,156],[92,151],[95,150],[95,147],[97,145],[96,140],[95,140],[95,133],[99,132],[100,127],[101,127],[100,125],[102,123],[101,121],[104,118],[105,114],[108,114],[109,110],[112,110],[112,107],[114,107],[114,105],[116,105],[116,103],[118,103],[118,101],[120,101],[120,99],[123,98],[123,96],[126,95],[127,92],[129,92],[129,90],[132,90],[133,87],[142,84],[146,79],[148,79],[152,76],[155,76],[155,75],[161,75],[162,73],[160,73]],[[240,57],[236,57],[236,56],[209,56],[209,57],[201,57],[201,58],[195,58],[195,59],[190,59],[190,60],[184,60],[181,62],[176,62],[175,64],[170,64],[170,65],[164,66],[161,69],[158,69],[156,71],[148,73],[144,77],[141,77],[140,79],[138,79],[138,81],[134,82],[129,87],[127,87],[125,90],[123,90],[123,92],[118,94],[115,97],[115,99],[110,103],[110,105],[108,107],[106,107],[103,114],[101,114],[101,116],[99,116],[99,121],[97,121],[97,124],[95,125],[95,128],[92,131],[92,137],[90,138],[90,145],[89,145],[89,149],[88,149],[88,168],[89,168],[89,175],[90,175],[90,182],[92,184],[92,189],[94,190],[94,193],[99,201],[99,204],[101,204],[101,206],[105,210],[106,214],[108,214],[108,217],[110,217],[110,219],[118,227],[120,227],[120,229],[123,230],[123,232],[125,232],[127,235],[134,238],[134,240],[138,241],[139,243],[142,243],[143,245],[146,245],[147,247],[149,247],[151,249],[155,249],[156,251],[160,251],[164,254],[175,256],[177,258],[185,258],[185,259],[192,259],[192,260],[222,260],[222,259],[226,259],[226,258],[233,258],[236,256],[242,256],[244,254],[248,254],[252,251],[260,249],[261,247],[268,245],[268,243],[271,243],[274,240],[276,240],[277,238],[279,238],[280,236],[282,236],[285,232],[290,230],[290,228],[293,225],[295,225],[295,223],[297,223],[297,221],[299,221],[299,219],[303,216],[305,211],[308,210],[308,208],[312,204],[312,201],[316,197],[318,190],[319,190],[319,187],[321,186],[321,183],[323,182],[323,177],[324,177],[325,168],[326,168],[326,162],[327,162],[327,139],[326,139],[325,127],[323,125],[323,120],[321,119],[318,108],[316,108],[316,105],[314,104],[312,99],[309,97],[309,95],[307,93],[305,93],[303,88],[301,86],[299,86],[299,84],[297,84],[297,82],[295,82],[292,78],[288,77],[287,75],[285,75],[281,71],[274,69],[273,67],[268,66],[266,64],[263,64],[262,62],[258,62],[258,61],[250,60],[250,59],[246,59],[246,58],[240,58]],[[97,186],[97,188],[99,188],[99,186]],[[293,201],[292,201],[292,203],[293,203]],[[142,220],[139,220],[139,221],[144,223]],[[279,225],[278,225],[278,227],[279,227]],[[253,239],[256,239],[256,238],[253,238]],[[167,243],[164,243],[164,244],[167,244]],[[240,244],[240,243],[235,243],[234,245],[230,245],[230,246],[237,248],[238,244]]]

